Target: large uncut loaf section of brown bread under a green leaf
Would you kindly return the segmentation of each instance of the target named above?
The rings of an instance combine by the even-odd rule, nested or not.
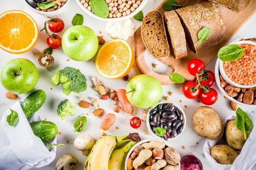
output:
[[[179,8],[176,13],[185,29],[189,46],[195,53],[218,44],[224,38],[224,20],[218,4],[203,0],[195,5]],[[207,40],[199,45],[198,33],[204,27],[210,28],[210,34]]]

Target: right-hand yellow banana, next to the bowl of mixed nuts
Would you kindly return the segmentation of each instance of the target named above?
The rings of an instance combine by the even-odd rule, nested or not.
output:
[[[125,156],[125,153],[127,153],[131,149],[131,147],[133,147],[133,145],[136,143],[137,142],[130,141],[121,149],[114,150],[111,153],[111,156],[108,162],[108,170],[121,170],[122,161]]]

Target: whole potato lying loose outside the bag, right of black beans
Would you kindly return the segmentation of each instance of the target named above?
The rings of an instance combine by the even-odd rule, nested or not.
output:
[[[201,106],[192,116],[192,124],[198,136],[216,139],[221,135],[222,122],[218,113],[209,106]]]

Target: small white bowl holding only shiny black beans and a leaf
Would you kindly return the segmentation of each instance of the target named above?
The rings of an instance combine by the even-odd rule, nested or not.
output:
[[[171,101],[158,102],[156,105],[154,105],[152,108],[149,109],[148,114],[147,114],[147,117],[146,117],[146,123],[147,123],[147,127],[148,127],[148,130],[149,130],[149,132],[151,133],[151,135],[153,135],[156,139],[162,140],[162,141],[164,141],[164,142],[166,142],[166,140],[164,140],[164,139],[163,139],[162,137],[160,137],[160,136],[157,136],[157,135],[153,132],[153,130],[151,129],[150,123],[149,123],[149,122],[150,122],[150,115],[149,115],[149,112],[150,112],[153,108],[155,108],[157,105],[159,105],[159,104],[165,104],[165,103],[173,103],[173,105],[174,105],[176,108],[180,109],[180,111],[183,113],[183,117],[184,117],[184,128],[183,128],[182,132],[181,132],[180,134],[178,134],[178,135],[177,135],[176,137],[174,137],[174,138],[168,138],[168,141],[172,141],[172,140],[175,140],[175,139],[177,139],[178,137],[180,137],[180,135],[183,133],[183,131],[184,131],[185,128],[186,128],[186,115],[185,115],[185,112],[183,111],[183,109],[182,109],[179,105],[177,105],[176,103],[171,102]]]

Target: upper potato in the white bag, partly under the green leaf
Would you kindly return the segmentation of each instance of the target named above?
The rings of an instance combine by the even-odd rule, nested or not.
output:
[[[251,133],[250,131],[246,132],[246,138],[249,137]],[[226,131],[225,131],[225,138],[227,143],[233,147],[235,150],[241,151],[242,147],[244,146],[245,139],[244,139],[244,133],[242,130],[239,130],[236,127],[235,120],[230,120],[227,122],[226,125]]]

